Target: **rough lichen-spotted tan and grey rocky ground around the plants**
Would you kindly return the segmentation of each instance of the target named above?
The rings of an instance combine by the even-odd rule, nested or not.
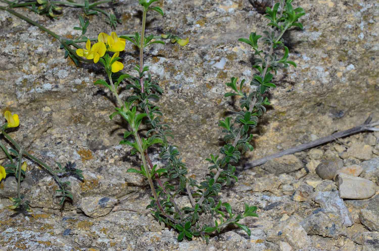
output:
[[[122,21],[117,34],[139,29],[137,1],[112,5]],[[64,210],[53,191],[57,185],[41,167],[28,161],[22,193],[32,214],[6,208],[16,196],[16,179],[0,184],[0,250],[379,250],[379,134],[360,133],[308,151],[283,156],[243,170],[252,159],[362,124],[370,113],[379,120],[377,1],[294,1],[307,14],[304,31],[285,37],[298,68],[278,72],[272,106],[254,131],[255,150],[238,167],[239,182],[222,190],[223,201],[242,212],[258,207],[259,218],[201,240],[177,242],[177,233],[145,214],[149,187],[141,176],[126,173],[138,157],[117,145],[124,128],[109,121],[114,100],[93,86],[100,68],[76,67],[63,58],[59,42],[36,27],[0,11],[0,109],[19,114],[11,130],[25,149],[51,165],[75,161],[83,182],[70,177],[74,194]],[[160,0],[165,18],[148,16],[147,34],[171,31],[190,37],[186,47],[157,45],[145,62],[164,90],[159,106],[177,136],[189,175],[201,180],[204,159],[218,152],[217,121],[236,104],[222,98],[232,76],[251,80],[249,48],[238,42],[267,23],[247,0]],[[103,5],[109,7],[109,5]],[[78,9],[66,8],[58,19],[17,9],[61,36],[80,33]],[[88,36],[110,33],[103,16],[90,17]],[[131,72],[138,53],[122,55]],[[128,92],[121,92],[127,97]],[[232,104],[232,106],[230,106]],[[234,106],[233,106],[234,105]],[[153,162],[160,164],[157,152]],[[0,155],[0,164],[6,158]],[[179,201],[181,205],[189,202]]]

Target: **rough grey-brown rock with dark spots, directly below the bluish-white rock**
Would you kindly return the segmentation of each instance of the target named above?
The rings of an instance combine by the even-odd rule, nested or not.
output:
[[[341,216],[334,212],[315,210],[314,214],[305,218],[300,224],[308,235],[320,235],[334,239],[346,235],[346,228],[342,224]]]

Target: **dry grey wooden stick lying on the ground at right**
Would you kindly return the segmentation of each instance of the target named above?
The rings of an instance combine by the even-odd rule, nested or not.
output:
[[[262,165],[263,163],[265,163],[271,159],[274,159],[277,157],[282,157],[283,155],[287,155],[287,154],[297,153],[299,151],[303,151],[303,150],[306,150],[306,149],[309,149],[312,147],[316,147],[318,145],[322,145],[324,143],[336,140],[336,139],[341,138],[341,137],[349,136],[349,135],[360,133],[363,131],[379,131],[379,128],[374,127],[374,126],[379,125],[379,121],[370,124],[371,120],[372,120],[372,117],[370,115],[370,116],[368,116],[368,118],[366,119],[366,121],[362,125],[353,127],[351,129],[348,129],[345,131],[333,133],[329,136],[322,137],[322,138],[314,140],[312,142],[301,144],[301,145],[298,145],[297,147],[292,147],[292,148],[289,148],[287,150],[281,151],[279,153],[274,153],[272,155],[263,157],[261,159],[257,159],[255,161],[247,163],[243,169],[246,170],[246,169],[249,169],[252,167],[256,167],[258,165]]]

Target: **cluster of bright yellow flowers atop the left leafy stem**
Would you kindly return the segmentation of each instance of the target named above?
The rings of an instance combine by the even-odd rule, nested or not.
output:
[[[85,49],[77,49],[76,54],[86,59],[93,59],[96,64],[99,59],[105,55],[106,51],[114,52],[111,61],[118,58],[120,51],[125,49],[125,39],[119,38],[116,32],[112,32],[111,35],[106,33],[100,33],[97,37],[98,41],[91,47],[91,41],[87,40]],[[121,62],[113,61],[111,65],[105,65],[109,67],[112,72],[119,72],[124,68]]]

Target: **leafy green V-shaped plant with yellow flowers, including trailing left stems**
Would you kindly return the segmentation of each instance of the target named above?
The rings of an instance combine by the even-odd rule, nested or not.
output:
[[[241,220],[246,217],[258,217],[256,214],[257,207],[245,204],[244,211],[236,213],[232,206],[229,203],[222,202],[218,195],[222,187],[238,181],[235,175],[235,165],[240,161],[244,152],[253,150],[250,143],[253,135],[250,132],[252,128],[257,126],[258,118],[266,112],[265,106],[270,104],[266,94],[271,88],[276,87],[273,78],[277,74],[277,70],[287,68],[290,65],[296,67],[293,61],[288,60],[289,50],[285,46],[282,36],[291,27],[302,29],[299,18],[305,12],[302,8],[293,8],[293,0],[280,0],[272,9],[266,8],[265,17],[269,20],[269,29],[263,31],[263,35],[252,32],[248,38],[238,39],[238,41],[250,45],[254,51],[255,60],[252,68],[255,69],[255,73],[250,82],[251,88],[246,91],[248,89],[244,88],[246,80],[239,82],[236,77],[232,77],[231,81],[226,83],[226,86],[232,91],[227,92],[224,96],[240,97],[241,111],[237,112],[234,117],[227,117],[219,121],[218,125],[222,128],[225,144],[220,147],[218,154],[210,154],[206,159],[209,162],[209,174],[203,181],[198,182],[187,176],[188,170],[180,157],[179,148],[171,145],[168,140],[173,137],[172,130],[169,125],[161,122],[163,114],[157,104],[151,101],[158,100],[159,95],[163,94],[163,90],[157,81],[153,80],[149,73],[149,66],[144,65],[144,49],[154,44],[165,44],[161,39],[169,39],[171,43],[177,42],[182,46],[189,42],[189,38],[182,39],[171,33],[161,36],[154,36],[153,34],[147,36],[145,34],[147,12],[155,11],[164,16],[163,10],[154,5],[157,1],[138,0],[142,8],[140,33],[121,36],[117,36],[115,32],[110,35],[100,33],[97,39],[89,39],[84,36],[88,23],[83,18],[80,19],[81,27],[75,27],[77,30],[82,30],[81,36],[76,40],[64,39],[51,31],[47,32],[59,39],[62,44],[61,48],[66,51],[65,57],[70,56],[73,60],[75,59],[75,63],[78,61],[93,62],[104,68],[108,76],[107,80],[99,79],[94,84],[108,88],[117,100],[117,106],[113,114],[110,115],[110,119],[118,116],[124,119],[128,125],[124,139],[120,141],[120,144],[130,147],[131,154],[139,154],[141,159],[140,168],[130,168],[127,172],[138,173],[147,180],[152,193],[147,209],[150,209],[155,218],[159,222],[164,222],[167,226],[176,229],[178,240],[201,237],[208,243],[211,234],[220,232],[229,225],[238,226],[250,235],[250,229]],[[85,2],[85,5],[87,6],[86,11],[89,11],[92,5],[89,5],[88,2]],[[18,14],[18,16],[22,15]],[[24,17],[21,18],[27,20]],[[27,21],[38,26],[33,21]],[[47,30],[44,27],[38,27]],[[97,42],[91,46],[91,41]],[[86,42],[85,48],[80,48],[77,44],[79,42]],[[120,54],[125,48],[128,50],[130,43],[139,50],[139,64],[134,67],[135,75],[121,72],[124,64],[121,62]],[[77,50],[72,50],[71,46],[76,47]],[[121,86],[123,89],[132,89],[133,91],[132,95],[126,100],[122,100],[119,96],[119,87]],[[4,132],[6,126],[16,125],[16,118],[9,114],[7,116],[8,125],[3,125],[2,134],[16,147],[17,150],[12,150],[11,153],[16,157],[17,164],[14,164],[13,158],[10,157],[11,154],[5,147],[0,145],[11,161],[11,164],[7,166],[11,168],[9,171],[5,169],[6,173],[17,173],[18,179],[21,179],[21,173],[25,173],[22,168],[23,154],[47,168],[45,164],[30,154],[28,155]],[[12,118],[14,122],[11,121]],[[145,135],[140,134],[141,124],[149,128]],[[158,167],[157,164],[152,164],[148,149],[153,145],[160,148],[159,156],[164,163],[167,163],[166,165]],[[58,183],[60,181],[56,176],[57,172],[68,172],[82,178],[81,171],[75,168],[75,164],[69,162],[64,168],[60,164],[58,167],[59,169],[56,171],[50,167],[50,169],[47,168],[55,175]],[[5,177],[1,167],[0,175]],[[162,181],[163,179],[164,181]],[[65,190],[67,184],[63,182],[60,183],[60,186],[61,189],[58,191],[63,193],[63,197],[72,198],[72,194]],[[179,196],[188,196],[190,206],[180,208],[176,203]],[[13,200],[14,205],[23,203],[24,207],[27,208],[25,205],[28,202],[24,201],[22,196],[19,195],[17,200]],[[213,217],[214,224],[203,223],[202,217],[207,214]]]

